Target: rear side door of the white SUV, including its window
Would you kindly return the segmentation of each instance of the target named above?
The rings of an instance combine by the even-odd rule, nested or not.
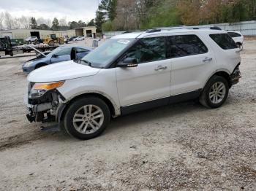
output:
[[[170,95],[203,88],[206,75],[215,62],[211,49],[195,34],[168,36],[168,47],[172,65]]]

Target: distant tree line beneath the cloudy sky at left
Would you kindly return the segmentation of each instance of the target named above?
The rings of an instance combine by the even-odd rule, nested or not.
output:
[[[0,31],[3,29],[38,29],[38,30],[53,30],[64,31],[84,26],[95,26],[94,19],[88,23],[82,20],[67,22],[66,17],[58,20],[54,17],[53,20],[45,19],[43,17],[12,17],[9,12],[0,12]]]

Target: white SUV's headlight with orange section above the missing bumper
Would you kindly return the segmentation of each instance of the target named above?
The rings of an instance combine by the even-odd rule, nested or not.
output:
[[[39,98],[44,95],[48,90],[53,90],[57,87],[61,87],[64,81],[61,82],[49,82],[49,83],[35,83],[29,93],[29,98]]]

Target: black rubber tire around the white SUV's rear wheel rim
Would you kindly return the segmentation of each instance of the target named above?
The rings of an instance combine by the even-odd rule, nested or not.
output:
[[[213,101],[211,101],[210,91],[212,90],[211,88],[213,87],[213,85],[216,84],[217,82],[223,83],[225,85],[225,95],[224,95],[224,98],[222,98],[222,101],[215,104],[213,103]],[[203,88],[203,91],[199,98],[200,104],[208,108],[218,108],[219,106],[222,106],[222,104],[224,104],[224,102],[226,101],[228,90],[229,90],[229,85],[228,85],[227,79],[220,76],[213,76],[211,77],[211,79],[208,80],[208,82],[206,83],[206,86]]]

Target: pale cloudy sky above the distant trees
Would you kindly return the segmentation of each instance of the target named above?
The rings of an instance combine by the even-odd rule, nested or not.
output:
[[[53,17],[67,21],[89,22],[95,17],[100,0],[1,0],[0,12],[10,12],[12,17]]]

